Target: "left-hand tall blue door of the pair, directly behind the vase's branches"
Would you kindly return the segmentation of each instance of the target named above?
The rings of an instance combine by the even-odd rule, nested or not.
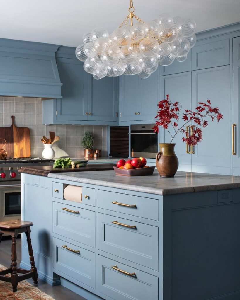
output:
[[[182,110],[179,114],[179,128],[184,125],[182,120],[182,113],[185,109],[191,110],[192,108],[192,72],[185,72],[173,75],[161,76],[160,79],[160,91],[161,100],[166,99],[166,94],[169,94],[169,99],[171,102],[179,101],[182,105]],[[186,126],[183,127],[186,129]],[[175,130],[172,126],[169,127],[170,134],[174,136]],[[161,129],[160,132],[160,142],[170,143],[172,137],[166,130]],[[173,143],[176,143],[175,153],[179,159],[179,171],[191,172],[192,157],[188,151],[186,151],[186,144],[182,142],[182,133],[177,134]]]

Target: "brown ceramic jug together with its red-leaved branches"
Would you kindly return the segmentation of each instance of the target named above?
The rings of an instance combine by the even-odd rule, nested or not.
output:
[[[156,155],[156,167],[161,177],[174,177],[178,170],[178,158],[174,152],[176,144],[172,143],[176,134],[182,133],[182,141],[187,143],[188,146],[196,146],[202,140],[202,128],[208,126],[208,119],[212,122],[214,120],[219,122],[223,115],[217,107],[211,106],[209,100],[207,100],[207,103],[198,102],[195,110],[185,110],[185,113],[182,114],[184,124],[180,126],[179,114],[182,105],[179,102],[172,103],[169,100],[169,95],[166,96],[167,99],[158,102],[158,114],[155,117],[157,121],[153,129],[154,132],[158,133],[159,126],[161,126],[169,132],[172,140],[170,143],[159,144],[160,152]],[[188,130],[184,130],[187,124],[189,124],[187,128],[190,128],[190,133]],[[169,125],[173,128],[172,133],[169,131]]]

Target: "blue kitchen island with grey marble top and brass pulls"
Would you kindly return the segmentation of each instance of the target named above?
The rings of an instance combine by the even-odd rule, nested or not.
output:
[[[239,300],[239,211],[240,177],[22,173],[39,277],[91,300]]]

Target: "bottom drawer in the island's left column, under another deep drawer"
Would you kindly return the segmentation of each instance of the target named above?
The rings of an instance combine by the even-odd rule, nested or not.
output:
[[[58,238],[53,238],[53,249],[53,268],[60,271],[62,277],[66,274],[79,283],[95,288],[94,252]]]

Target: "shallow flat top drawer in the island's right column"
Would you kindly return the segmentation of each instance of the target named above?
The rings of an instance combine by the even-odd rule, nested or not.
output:
[[[98,207],[158,221],[159,200],[98,190]]]

